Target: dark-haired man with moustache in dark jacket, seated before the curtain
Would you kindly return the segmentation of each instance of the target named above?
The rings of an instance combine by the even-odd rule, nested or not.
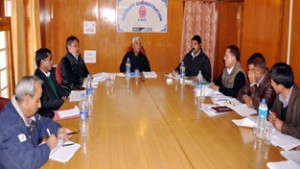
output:
[[[211,64],[207,55],[201,48],[201,37],[195,35],[191,40],[191,51],[188,52],[179,65],[175,68],[175,73],[180,73],[181,63],[185,66],[185,76],[197,76],[199,70],[203,78],[207,81],[211,81]]]

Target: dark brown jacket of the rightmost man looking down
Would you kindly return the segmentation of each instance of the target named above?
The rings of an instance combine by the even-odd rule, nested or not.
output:
[[[277,95],[271,111],[281,117],[282,103]],[[294,84],[286,110],[286,120],[283,122],[281,132],[300,138],[300,89]]]

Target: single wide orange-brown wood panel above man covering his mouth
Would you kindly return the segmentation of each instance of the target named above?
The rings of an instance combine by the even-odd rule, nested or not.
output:
[[[262,53],[270,68],[279,60],[282,31],[282,0],[245,0],[241,40],[241,63],[255,52]]]

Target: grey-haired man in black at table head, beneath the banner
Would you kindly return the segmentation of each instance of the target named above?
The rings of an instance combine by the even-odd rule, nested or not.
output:
[[[121,62],[120,72],[126,72],[126,61],[129,58],[131,67],[130,72],[134,72],[135,69],[138,69],[140,72],[150,72],[150,63],[147,59],[147,56],[141,52],[141,39],[138,36],[132,38],[131,51],[127,52]]]

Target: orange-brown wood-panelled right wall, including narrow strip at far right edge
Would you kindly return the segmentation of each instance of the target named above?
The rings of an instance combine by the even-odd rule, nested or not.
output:
[[[241,63],[254,52],[261,52],[270,69],[276,62],[287,61],[288,45],[288,0],[244,0],[241,37]],[[290,65],[295,82],[300,85],[300,2],[294,0]]]

